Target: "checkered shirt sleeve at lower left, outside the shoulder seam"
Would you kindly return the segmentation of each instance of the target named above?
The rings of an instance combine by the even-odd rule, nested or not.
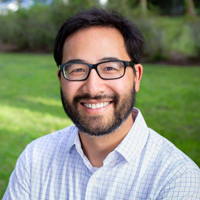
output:
[[[8,187],[2,200],[30,198],[30,167],[27,162],[26,150],[17,160],[14,171],[10,176]]]

